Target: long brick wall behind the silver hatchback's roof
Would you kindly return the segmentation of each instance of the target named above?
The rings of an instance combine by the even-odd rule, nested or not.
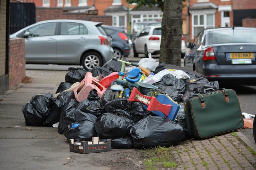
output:
[[[86,13],[63,12],[62,8],[36,7],[36,22],[55,19],[85,20],[112,25],[112,16],[87,15]]]

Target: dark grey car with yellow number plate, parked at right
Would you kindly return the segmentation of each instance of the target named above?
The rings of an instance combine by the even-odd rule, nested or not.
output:
[[[203,29],[184,57],[184,65],[210,81],[256,85],[256,28]]]

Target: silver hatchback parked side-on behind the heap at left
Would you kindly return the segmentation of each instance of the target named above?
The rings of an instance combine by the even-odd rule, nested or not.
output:
[[[27,26],[10,38],[25,38],[27,64],[102,66],[113,57],[112,39],[103,23],[47,20]]]

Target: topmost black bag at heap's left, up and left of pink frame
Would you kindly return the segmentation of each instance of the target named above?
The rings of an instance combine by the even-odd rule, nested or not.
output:
[[[86,75],[87,71],[81,67],[69,67],[69,72],[65,75],[65,82],[74,84],[76,82],[81,82]]]

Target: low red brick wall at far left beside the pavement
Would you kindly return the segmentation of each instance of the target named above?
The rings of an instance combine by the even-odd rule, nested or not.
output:
[[[26,77],[25,39],[10,39],[9,89]]]

